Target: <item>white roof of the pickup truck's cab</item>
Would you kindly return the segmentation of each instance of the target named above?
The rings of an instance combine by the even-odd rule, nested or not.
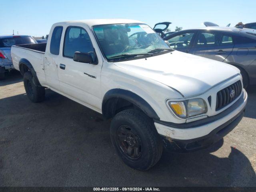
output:
[[[123,24],[123,23],[143,23],[138,20],[131,20],[131,19],[90,19],[90,20],[74,20],[74,21],[65,21],[65,22],[58,22],[54,25],[62,25],[68,23],[84,23],[89,27],[95,25],[106,25],[106,24]]]

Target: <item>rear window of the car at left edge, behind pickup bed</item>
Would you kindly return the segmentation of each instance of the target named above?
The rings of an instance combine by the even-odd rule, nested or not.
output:
[[[11,47],[13,45],[36,44],[36,41],[30,36],[13,36],[9,38],[0,38],[0,47]]]

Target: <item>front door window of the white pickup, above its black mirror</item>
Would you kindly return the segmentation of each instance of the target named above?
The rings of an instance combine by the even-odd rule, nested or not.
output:
[[[86,30],[80,27],[68,27],[65,34],[63,55],[73,58],[76,51],[89,53],[92,59],[96,60],[96,54]]]

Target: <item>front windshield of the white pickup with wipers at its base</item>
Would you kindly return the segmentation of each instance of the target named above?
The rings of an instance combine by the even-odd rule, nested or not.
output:
[[[152,56],[170,51],[162,38],[146,24],[107,24],[93,27],[108,60]]]

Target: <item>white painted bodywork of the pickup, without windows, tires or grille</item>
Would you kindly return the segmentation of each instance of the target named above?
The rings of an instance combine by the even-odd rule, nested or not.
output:
[[[116,63],[106,61],[91,27],[117,23],[142,22],[111,19],[56,23],[50,30],[49,39],[51,39],[54,27],[63,26],[60,54],[56,56],[50,53],[50,40],[47,43],[45,53],[13,46],[11,52],[14,67],[19,70],[18,62],[21,58],[26,58],[34,67],[42,86],[51,88],[100,113],[102,112],[104,95],[108,90],[114,88],[122,88],[138,94],[152,106],[160,120],[173,123],[185,123],[186,119],[177,117],[168,108],[166,102],[169,100],[203,98],[207,101],[208,96],[212,96],[212,105],[209,106],[206,102],[208,112],[204,114],[205,116],[216,115],[236,102],[237,99],[222,110],[215,111],[216,93],[230,84],[242,80],[237,68],[222,62],[178,51],[149,57],[147,60],[137,59]],[[74,62],[72,59],[62,56],[64,33],[68,26],[80,26],[88,32],[98,57],[98,65]],[[66,69],[60,69],[60,64],[65,64]],[[96,78],[91,78],[84,72],[96,76]],[[243,105],[245,104],[246,100]],[[239,109],[232,114],[237,113]],[[209,126],[193,129],[175,130],[160,124],[156,124],[156,128],[163,135],[166,135],[164,132],[167,132],[168,135],[172,133],[173,138],[195,138],[207,134],[210,130],[218,127],[220,123],[230,119],[231,116],[226,116],[209,124]],[[194,117],[188,121],[198,119]]]

